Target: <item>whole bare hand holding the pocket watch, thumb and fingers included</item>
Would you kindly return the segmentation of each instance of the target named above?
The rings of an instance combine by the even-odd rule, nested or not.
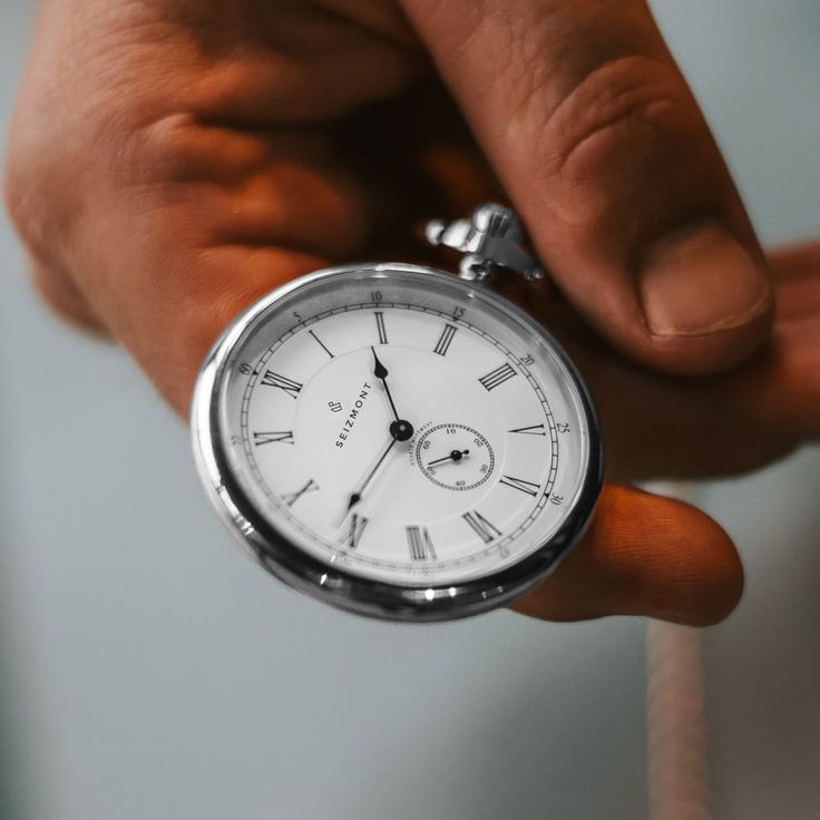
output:
[[[6,195],[46,301],[180,413],[262,293],[447,265],[413,226],[511,199],[563,297],[501,286],[578,359],[618,481],[528,615],[720,621],[743,584],[726,534],[622,482],[818,435],[820,246],[767,260],[636,0],[47,0]]]

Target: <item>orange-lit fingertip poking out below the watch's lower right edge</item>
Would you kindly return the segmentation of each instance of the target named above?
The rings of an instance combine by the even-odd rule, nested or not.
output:
[[[719,524],[683,501],[611,484],[575,551],[512,608],[546,621],[647,615],[706,626],[742,593],[740,557]]]

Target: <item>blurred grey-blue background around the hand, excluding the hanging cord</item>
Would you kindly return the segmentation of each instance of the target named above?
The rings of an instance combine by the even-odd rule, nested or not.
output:
[[[32,7],[0,0],[3,128]],[[820,232],[817,0],[654,7],[763,238]],[[297,597],[223,531],[123,351],[38,304],[6,222],[0,265],[1,817],[645,816],[644,623]],[[749,573],[705,636],[721,820],[820,817],[818,486],[814,449],[699,490]]]

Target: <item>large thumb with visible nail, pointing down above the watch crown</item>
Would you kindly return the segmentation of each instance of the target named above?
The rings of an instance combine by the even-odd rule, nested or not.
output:
[[[763,255],[643,0],[403,0],[550,274],[677,373],[765,338]]]

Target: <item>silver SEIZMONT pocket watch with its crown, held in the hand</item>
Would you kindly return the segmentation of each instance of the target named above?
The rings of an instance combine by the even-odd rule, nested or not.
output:
[[[460,273],[379,262],[301,276],[223,332],[197,377],[197,468],[270,573],[328,604],[447,621],[520,596],[582,535],[598,423],[558,343],[490,290],[543,269],[508,208],[427,225]]]

